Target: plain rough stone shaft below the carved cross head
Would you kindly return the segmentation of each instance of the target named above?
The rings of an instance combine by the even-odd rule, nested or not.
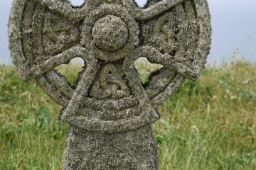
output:
[[[88,132],[70,126],[63,170],[156,170],[156,142],[150,126],[128,132]]]

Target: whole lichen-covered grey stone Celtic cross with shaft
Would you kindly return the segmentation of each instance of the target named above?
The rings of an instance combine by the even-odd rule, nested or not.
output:
[[[70,124],[63,169],[156,170],[150,124],[184,79],[197,79],[210,50],[206,0],[14,0],[9,46],[24,81],[63,106]],[[85,61],[71,86],[55,67]],[[134,62],[161,64],[142,84]],[[72,72],[72,71],[71,71]]]

